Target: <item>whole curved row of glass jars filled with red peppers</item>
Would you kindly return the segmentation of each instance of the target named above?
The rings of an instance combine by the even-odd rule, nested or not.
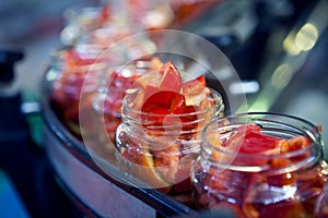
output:
[[[106,16],[104,8],[102,19]],[[86,36],[83,40],[54,55],[51,102],[72,133],[81,140],[107,134],[109,140],[95,146],[115,148],[118,167],[147,187],[190,206],[230,208],[237,217],[328,214],[327,172],[316,126],[270,113],[223,119],[222,96],[207,87],[204,75],[183,80],[183,68],[153,56],[156,44],[151,37],[125,40],[131,28],[117,26],[121,24],[87,29],[79,35]],[[116,46],[118,40],[125,43]],[[81,120],[87,125],[82,128],[84,135]],[[250,131],[257,141],[247,138],[247,123],[259,126]],[[105,132],[97,131],[101,124]],[[277,140],[276,147],[263,150],[259,132],[274,136],[270,142],[286,142]],[[248,154],[239,153],[245,152],[244,138],[255,147]],[[289,138],[296,142],[290,145]]]

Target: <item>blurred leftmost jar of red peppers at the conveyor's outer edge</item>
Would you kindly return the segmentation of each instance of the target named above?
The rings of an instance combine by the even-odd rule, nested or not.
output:
[[[97,45],[79,45],[55,55],[52,68],[57,69],[57,74],[51,84],[51,104],[68,129],[79,137],[79,116],[92,109],[99,86],[98,75],[105,69],[105,61],[98,59],[101,51]]]

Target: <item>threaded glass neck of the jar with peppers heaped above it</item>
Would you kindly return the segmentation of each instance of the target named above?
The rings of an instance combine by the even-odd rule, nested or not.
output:
[[[161,136],[186,138],[197,135],[200,140],[202,129],[213,119],[219,118],[224,110],[222,97],[212,90],[209,98],[215,101],[214,105],[203,109],[195,110],[190,113],[168,113],[157,114],[143,112],[132,107],[132,102],[138,100],[140,90],[133,89],[126,95],[122,101],[122,122],[127,124],[131,133],[143,136]]]

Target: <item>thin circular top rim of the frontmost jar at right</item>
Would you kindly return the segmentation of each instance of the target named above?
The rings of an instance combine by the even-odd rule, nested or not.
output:
[[[254,117],[251,119],[251,117]],[[232,119],[238,119],[238,118],[244,118],[246,119],[245,121],[247,122],[239,122],[239,123],[236,123],[235,125],[242,125],[242,124],[246,124],[246,123],[254,123],[256,121],[256,119],[258,120],[259,118],[261,118],[262,120],[261,121],[266,121],[266,122],[272,122],[273,124],[279,124],[281,126],[284,126],[284,128],[291,128],[291,130],[293,131],[297,131],[297,132],[293,132],[295,134],[300,134],[300,135],[303,135],[303,136],[307,136],[308,138],[311,138],[312,141],[312,145],[306,147],[306,148],[302,148],[302,149],[297,149],[297,150],[292,150],[292,152],[288,152],[288,153],[283,153],[283,154],[272,154],[272,155],[267,155],[267,154],[245,154],[245,153],[238,153],[238,150],[236,152],[233,152],[233,150],[224,150],[224,149],[221,149],[219,147],[216,147],[215,145],[212,145],[209,140],[208,140],[208,136],[207,136],[207,132],[211,130],[211,128],[213,128],[213,125],[218,124],[219,122],[223,123],[223,122],[226,122],[229,120],[232,120]],[[263,119],[266,118],[266,119]],[[277,120],[273,120],[272,118],[282,118],[282,119],[285,119],[285,120],[290,120],[290,121],[296,121],[297,123],[302,123],[303,124],[303,129],[300,129],[300,128],[295,128],[293,126],[292,124],[290,123],[283,123],[283,122],[279,122]],[[257,124],[255,122],[255,124]],[[229,123],[226,122],[225,124],[222,124],[221,126],[218,126],[215,129],[215,131],[220,132],[221,130],[224,130],[226,128],[232,128],[233,124],[232,123]],[[307,128],[309,128],[311,130],[308,130]],[[267,131],[281,131],[281,129],[268,129]],[[225,118],[219,118],[216,120],[213,120],[211,123],[209,123],[202,131],[201,133],[201,136],[202,136],[202,153],[206,153],[206,155],[211,155],[211,150],[214,150],[214,152],[219,152],[223,155],[227,155],[227,156],[238,156],[238,158],[248,158],[248,159],[262,159],[262,160],[269,160],[269,159],[272,159],[272,158],[292,158],[292,157],[296,157],[296,156],[300,156],[302,154],[305,154],[307,152],[312,152],[312,150],[316,150],[317,148],[319,148],[320,150],[323,150],[323,141],[321,141],[321,135],[320,135],[320,132],[318,130],[318,128],[316,125],[314,125],[312,122],[305,120],[305,119],[302,119],[300,117],[295,117],[295,116],[291,116],[291,114],[284,114],[284,113],[277,113],[277,112],[245,112],[245,113],[236,113],[236,114],[231,114],[229,117],[225,117]],[[204,148],[206,146],[206,148]],[[215,160],[213,160],[215,161]],[[265,166],[261,166],[260,169],[258,170],[266,170],[265,169],[266,167]]]

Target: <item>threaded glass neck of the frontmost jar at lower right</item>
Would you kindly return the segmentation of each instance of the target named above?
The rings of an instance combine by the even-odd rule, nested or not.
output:
[[[238,148],[215,146],[218,136],[229,138],[234,130],[246,123],[255,123],[260,126],[261,133],[281,137],[284,140],[307,138],[308,146],[300,146],[297,149],[286,153],[272,154],[245,154]],[[244,135],[243,135],[244,134]],[[246,133],[242,133],[245,137]],[[286,173],[298,169],[312,167],[323,160],[323,141],[320,132],[312,123],[290,116],[276,113],[245,113],[214,121],[202,133],[201,158],[210,166],[222,170],[242,172]],[[245,140],[245,138],[244,138]],[[276,164],[277,162],[277,164]],[[274,167],[272,167],[274,166]]]

